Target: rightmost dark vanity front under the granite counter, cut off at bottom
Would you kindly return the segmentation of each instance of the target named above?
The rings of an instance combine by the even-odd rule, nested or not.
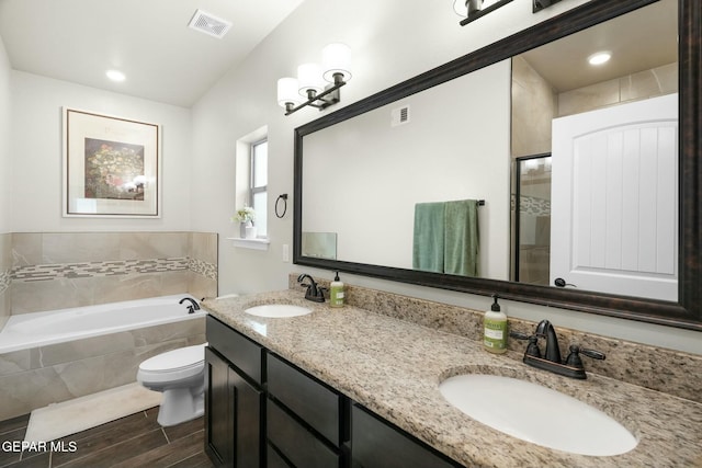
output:
[[[354,468],[454,468],[453,463],[358,406],[351,409]]]

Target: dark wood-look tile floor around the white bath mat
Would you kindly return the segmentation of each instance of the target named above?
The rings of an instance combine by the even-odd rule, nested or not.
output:
[[[158,407],[58,440],[55,450],[13,449],[30,415],[0,422],[2,468],[212,468],[204,454],[203,418],[171,427],[156,422]],[[63,443],[63,450],[61,444]],[[37,447],[38,448],[38,447]]]

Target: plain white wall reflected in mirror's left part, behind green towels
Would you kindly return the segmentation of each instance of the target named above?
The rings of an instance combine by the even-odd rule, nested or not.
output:
[[[505,60],[306,136],[303,231],[337,232],[338,260],[411,270],[416,205],[485,201],[464,227],[479,276],[507,279],[509,76]]]

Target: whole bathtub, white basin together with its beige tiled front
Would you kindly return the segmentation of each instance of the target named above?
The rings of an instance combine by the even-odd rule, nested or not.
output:
[[[0,332],[0,421],[136,383],[139,364],[205,342],[188,294],[11,316]]]

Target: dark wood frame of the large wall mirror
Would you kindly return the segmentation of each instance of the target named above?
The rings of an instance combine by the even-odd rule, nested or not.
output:
[[[426,273],[302,255],[303,138],[314,132],[534,47],[636,10],[657,0],[592,0],[482,49],[358,101],[295,129],[293,263],[477,295],[498,293],[522,303],[702,330],[702,2],[679,0],[679,277],[678,301],[639,299],[593,292]]]

